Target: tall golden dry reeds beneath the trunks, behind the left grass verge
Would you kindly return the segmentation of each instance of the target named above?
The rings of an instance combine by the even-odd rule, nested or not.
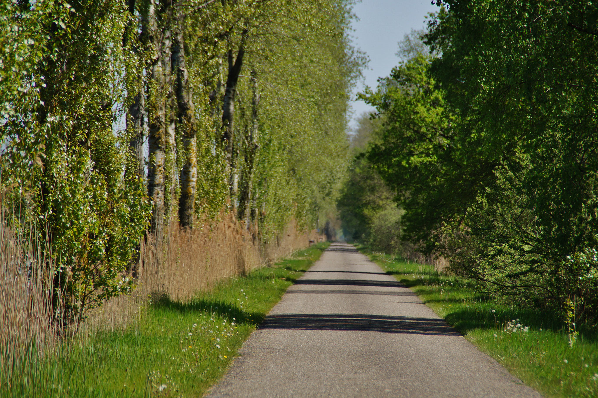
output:
[[[197,223],[193,230],[172,226],[176,223],[171,223],[161,245],[151,237],[142,243],[136,290],[91,311],[85,325],[88,330],[122,328],[137,319],[151,298],[166,295],[171,300],[187,300],[223,279],[288,257],[309,246],[310,240],[318,240],[315,230],[300,231],[291,221],[284,233],[263,245],[255,229],[246,228],[230,212]]]

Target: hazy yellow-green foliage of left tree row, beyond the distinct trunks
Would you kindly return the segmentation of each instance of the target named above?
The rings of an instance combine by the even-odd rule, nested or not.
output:
[[[350,84],[362,62],[346,36],[348,4],[282,3],[269,8],[275,24],[253,22],[246,45],[248,72],[238,88],[240,171],[248,168],[256,118],[252,101],[254,95],[259,98],[251,198],[261,212],[265,240],[291,217],[301,227],[313,226],[319,209],[331,200],[347,162],[345,115]],[[240,186],[247,184],[250,176],[239,175]]]

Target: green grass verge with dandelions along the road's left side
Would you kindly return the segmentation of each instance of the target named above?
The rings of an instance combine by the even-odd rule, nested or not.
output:
[[[199,397],[327,243],[178,303],[154,300],[135,326],[63,344],[17,372],[2,397]]]

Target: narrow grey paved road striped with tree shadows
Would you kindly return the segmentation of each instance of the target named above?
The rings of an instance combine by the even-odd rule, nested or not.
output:
[[[210,397],[540,397],[353,246],[334,243]]]

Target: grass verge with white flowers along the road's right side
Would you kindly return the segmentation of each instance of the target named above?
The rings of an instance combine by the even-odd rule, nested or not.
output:
[[[361,249],[467,340],[545,396],[598,396],[596,331],[582,329],[570,347],[566,326],[554,314],[499,304],[476,294],[466,280],[432,266]]]

